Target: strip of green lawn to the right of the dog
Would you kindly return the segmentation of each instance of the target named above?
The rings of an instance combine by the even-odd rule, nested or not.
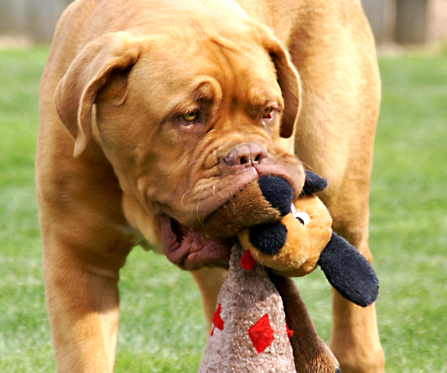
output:
[[[371,194],[390,372],[447,372],[447,57],[381,60]]]

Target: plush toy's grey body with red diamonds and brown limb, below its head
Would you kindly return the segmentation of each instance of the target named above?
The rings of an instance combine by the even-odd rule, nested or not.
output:
[[[241,267],[232,248],[198,373],[335,373],[338,363],[318,337],[295,282],[260,264]]]

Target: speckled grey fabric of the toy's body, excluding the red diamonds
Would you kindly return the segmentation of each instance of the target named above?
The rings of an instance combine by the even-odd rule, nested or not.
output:
[[[224,329],[214,328],[198,373],[296,373],[286,332],[283,301],[263,266],[240,266],[243,250],[232,248],[228,276],[218,297]],[[248,329],[267,314],[273,342],[257,353]]]

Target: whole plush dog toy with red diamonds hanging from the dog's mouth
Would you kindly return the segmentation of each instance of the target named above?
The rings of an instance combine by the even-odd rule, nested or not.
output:
[[[360,306],[376,299],[378,281],[368,261],[332,232],[329,212],[314,195],[326,185],[306,172],[301,196],[292,203],[287,181],[261,177],[205,222],[214,238],[236,232],[239,244],[199,373],[338,371],[290,277],[320,266],[331,285]]]

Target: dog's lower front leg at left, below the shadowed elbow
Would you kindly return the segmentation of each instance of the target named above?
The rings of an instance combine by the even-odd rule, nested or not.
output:
[[[58,372],[113,371],[118,333],[118,271],[67,248],[45,245],[46,299]]]

